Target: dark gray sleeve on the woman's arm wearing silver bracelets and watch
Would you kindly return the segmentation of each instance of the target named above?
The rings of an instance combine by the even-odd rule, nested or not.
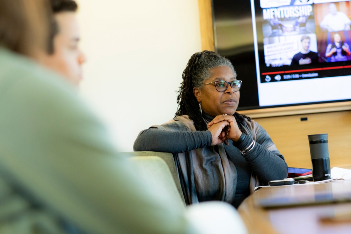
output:
[[[254,124],[257,129],[256,141],[249,134],[243,133],[246,134],[244,140],[233,142],[233,145],[246,152],[243,157],[262,183],[286,178],[288,169],[284,156],[280,154],[265,129],[256,122]]]

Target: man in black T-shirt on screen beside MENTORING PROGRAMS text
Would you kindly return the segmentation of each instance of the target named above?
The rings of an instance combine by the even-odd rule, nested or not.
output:
[[[309,36],[302,36],[301,45],[302,49],[299,53],[295,54],[291,60],[291,65],[305,65],[316,64],[318,62],[318,54],[310,51],[311,39]]]

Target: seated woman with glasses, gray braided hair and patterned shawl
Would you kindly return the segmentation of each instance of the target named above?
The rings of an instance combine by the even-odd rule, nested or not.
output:
[[[267,132],[236,111],[242,81],[217,53],[191,56],[175,118],[141,131],[134,151],[170,152],[188,204],[221,200],[238,207],[254,186],[284,179],[288,169]]]

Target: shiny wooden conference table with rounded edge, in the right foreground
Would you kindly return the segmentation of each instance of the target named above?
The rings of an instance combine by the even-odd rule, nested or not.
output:
[[[263,187],[238,212],[250,234],[350,234],[350,197],[351,180]],[[284,205],[274,207],[277,203]]]

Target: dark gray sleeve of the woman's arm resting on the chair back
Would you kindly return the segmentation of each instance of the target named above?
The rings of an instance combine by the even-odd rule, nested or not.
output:
[[[183,153],[197,148],[210,146],[210,131],[168,131],[166,129],[149,128],[141,131],[134,142],[134,151],[157,151]]]

